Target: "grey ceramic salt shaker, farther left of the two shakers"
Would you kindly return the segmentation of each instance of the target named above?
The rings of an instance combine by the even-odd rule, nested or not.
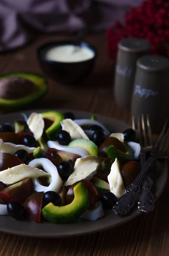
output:
[[[150,44],[141,38],[125,38],[118,44],[114,95],[118,105],[131,108],[137,59],[150,53]]]

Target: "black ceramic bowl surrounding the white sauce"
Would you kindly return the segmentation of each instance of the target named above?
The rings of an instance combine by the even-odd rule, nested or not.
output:
[[[45,57],[47,50],[52,47],[74,44],[74,41],[57,41],[44,44],[37,49],[37,56],[42,70],[52,79],[63,84],[77,83],[86,78],[91,73],[97,57],[97,49],[84,41],[80,42],[79,45],[94,52],[94,56],[86,61],[61,62],[52,61]]]

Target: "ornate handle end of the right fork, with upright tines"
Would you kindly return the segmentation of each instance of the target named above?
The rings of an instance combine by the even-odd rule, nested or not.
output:
[[[138,209],[141,212],[151,212],[155,205],[155,198],[151,193],[151,184],[148,180],[143,181],[141,186],[140,198],[138,201]]]

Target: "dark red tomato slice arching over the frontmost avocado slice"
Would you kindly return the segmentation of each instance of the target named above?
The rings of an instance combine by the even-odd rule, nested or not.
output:
[[[70,204],[72,203],[73,199],[74,199],[74,192],[73,192],[73,188],[77,185],[77,183],[82,182],[85,186],[86,189],[89,192],[89,209],[92,210],[95,208],[95,204],[100,200],[100,195],[97,191],[97,189],[95,188],[95,186],[92,184],[92,182],[90,180],[80,180],[77,181],[76,183],[74,183],[72,186],[69,187],[69,190],[67,192],[66,195],[66,203]]]

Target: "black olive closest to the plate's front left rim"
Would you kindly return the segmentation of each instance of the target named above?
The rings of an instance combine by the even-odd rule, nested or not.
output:
[[[18,202],[10,202],[7,204],[7,211],[16,220],[23,219],[24,207]]]

